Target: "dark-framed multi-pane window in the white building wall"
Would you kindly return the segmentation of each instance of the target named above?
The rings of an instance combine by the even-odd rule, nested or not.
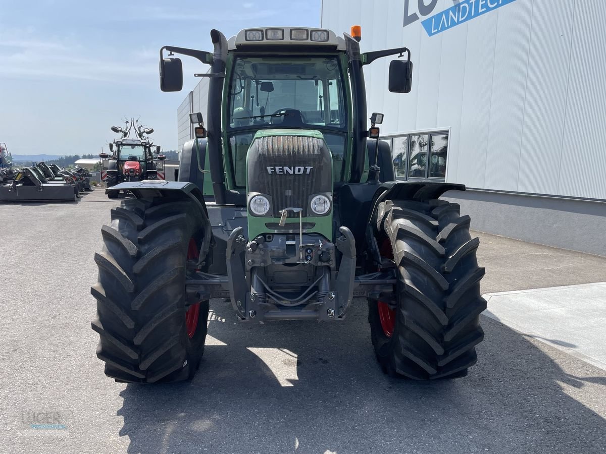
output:
[[[446,178],[448,131],[398,134],[382,140],[390,142],[398,180]]]

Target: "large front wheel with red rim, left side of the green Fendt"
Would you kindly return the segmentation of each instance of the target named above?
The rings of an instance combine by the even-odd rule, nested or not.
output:
[[[208,300],[186,306],[185,270],[204,231],[190,200],[130,199],[112,209],[95,254],[93,330],[105,375],[154,383],[192,378],[204,352]]]

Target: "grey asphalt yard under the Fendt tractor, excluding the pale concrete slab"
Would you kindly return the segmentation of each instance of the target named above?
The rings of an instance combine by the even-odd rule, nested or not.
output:
[[[265,325],[237,323],[229,303],[213,300],[193,381],[115,383],[95,356],[89,293],[115,204],[98,190],[78,203],[0,205],[0,452],[606,449],[605,370],[482,317],[468,377],[388,378],[363,300],[342,323]],[[606,258],[479,236],[483,293],[606,280]]]

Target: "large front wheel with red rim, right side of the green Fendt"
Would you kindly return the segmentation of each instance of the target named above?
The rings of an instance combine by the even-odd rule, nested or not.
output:
[[[469,225],[456,203],[385,202],[377,240],[382,257],[398,267],[398,285],[393,294],[368,301],[368,320],[388,375],[458,378],[476,363],[486,301],[479,239],[471,239]]]

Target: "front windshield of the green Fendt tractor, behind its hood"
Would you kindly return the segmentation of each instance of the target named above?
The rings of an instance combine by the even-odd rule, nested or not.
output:
[[[262,128],[319,130],[342,180],[347,100],[336,56],[238,57],[228,107],[228,142],[236,186],[245,186],[248,146]]]

